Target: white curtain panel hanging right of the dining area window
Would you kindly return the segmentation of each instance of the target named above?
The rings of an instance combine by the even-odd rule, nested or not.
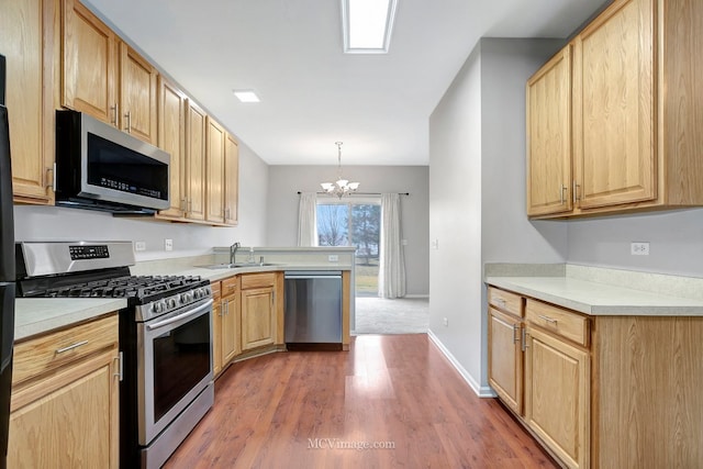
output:
[[[381,194],[381,253],[378,294],[382,298],[405,295],[405,258],[401,245],[400,196]]]

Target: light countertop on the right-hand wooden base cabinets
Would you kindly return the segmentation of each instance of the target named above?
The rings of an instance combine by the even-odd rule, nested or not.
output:
[[[487,277],[486,283],[590,315],[703,316],[703,301],[571,277]]]

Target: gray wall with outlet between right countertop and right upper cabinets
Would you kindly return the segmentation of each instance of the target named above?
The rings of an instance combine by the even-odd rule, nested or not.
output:
[[[570,264],[703,277],[702,209],[560,223]],[[649,256],[631,255],[632,242],[649,242]]]

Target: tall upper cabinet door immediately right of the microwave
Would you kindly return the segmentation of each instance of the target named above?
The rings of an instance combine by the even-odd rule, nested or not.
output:
[[[158,146],[171,156],[170,201],[159,217],[182,219],[186,214],[186,96],[164,77],[158,77]]]

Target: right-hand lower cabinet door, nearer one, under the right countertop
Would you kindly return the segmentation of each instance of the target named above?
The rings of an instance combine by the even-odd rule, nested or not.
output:
[[[589,354],[537,328],[527,330],[525,421],[570,468],[588,468]]]

